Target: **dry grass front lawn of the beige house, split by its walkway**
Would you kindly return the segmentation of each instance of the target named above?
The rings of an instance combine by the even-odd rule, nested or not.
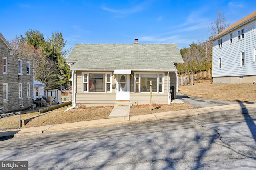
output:
[[[159,107],[159,109],[154,109]],[[51,111],[45,115],[36,117],[29,121],[24,127],[37,127],[37,126],[44,126],[44,125],[53,125],[53,124],[61,124],[61,123],[72,123],[78,121],[89,121],[89,120],[96,120],[96,119],[108,119],[112,109],[114,106],[108,107],[86,107],[80,109],[71,109],[67,112],[64,110],[67,107]],[[175,111],[175,110],[183,110],[183,109],[192,109],[194,107],[188,104],[171,104],[169,105],[161,105],[161,104],[152,104],[152,109],[150,109],[149,104],[145,105],[135,105],[130,107],[130,116],[136,115],[145,115],[151,113],[158,113],[158,112],[166,112],[166,111]],[[24,114],[26,115],[26,114]]]

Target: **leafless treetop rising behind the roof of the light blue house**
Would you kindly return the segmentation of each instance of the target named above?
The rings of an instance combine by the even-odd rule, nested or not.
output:
[[[211,26],[208,28],[209,33],[214,37],[222,32],[224,29],[229,27],[230,22],[228,23],[226,17],[224,16],[224,12],[220,10],[217,12],[215,21],[211,22]]]

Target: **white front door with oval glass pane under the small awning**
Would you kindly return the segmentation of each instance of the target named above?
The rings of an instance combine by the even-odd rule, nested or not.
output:
[[[116,75],[116,100],[130,101],[130,74]]]

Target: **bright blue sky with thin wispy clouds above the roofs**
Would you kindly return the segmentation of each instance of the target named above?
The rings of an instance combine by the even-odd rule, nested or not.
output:
[[[61,32],[65,49],[76,43],[176,43],[205,41],[218,10],[230,24],[256,10],[255,0],[4,0],[0,32],[10,41],[28,30]]]

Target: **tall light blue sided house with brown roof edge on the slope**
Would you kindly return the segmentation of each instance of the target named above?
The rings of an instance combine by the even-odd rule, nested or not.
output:
[[[214,83],[256,81],[256,11],[230,25],[212,41]]]

